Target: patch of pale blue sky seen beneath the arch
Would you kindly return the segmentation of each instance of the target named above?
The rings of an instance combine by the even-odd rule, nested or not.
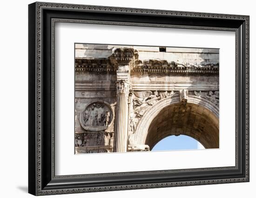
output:
[[[204,149],[203,145],[187,135],[168,136],[160,140],[151,151]]]

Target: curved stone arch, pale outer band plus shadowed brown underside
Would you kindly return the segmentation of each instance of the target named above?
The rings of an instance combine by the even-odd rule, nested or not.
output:
[[[167,116],[167,123],[172,123],[172,126],[174,126],[172,128],[165,126],[164,122],[159,126],[161,121],[163,121],[161,118],[166,114],[166,111],[174,111],[173,113],[169,113],[170,115]],[[195,111],[199,111],[200,113],[198,114]],[[184,128],[180,127],[182,124],[182,122],[180,122],[181,120],[179,121],[176,120],[177,118],[174,118],[176,116],[183,119],[183,117],[181,117],[182,113],[184,113],[184,115],[188,115],[189,113],[191,116],[193,115],[195,117],[195,121],[193,123],[190,123],[188,119],[186,120],[188,122],[187,124],[185,123],[187,132],[184,132]],[[200,114],[202,115],[200,116]],[[175,120],[178,121],[177,124],[174,123]],[[203,133],[202,127],[196,127],[196,125],[200,125],[200,123],[204,123],[205,127],[210,129],[204,129],[206,132]],[[157,130],[155,128],[157,125],[162,127],[160,130],[163,132],[160,135],[158,134],[159,136],[155,138],[153,133],[154,130]],[[207,135],[207,133],[209,133],[209,135]],[[181,103],[178,94],[162,99],[154,106],[151,106],[139,121],[134,134],[134,142],[136,145],[149,145],[151,149],[153,148],[152,146],[161,139],[169,135],[180,134],[188,135],[198,140],[205,148],[218,148],[219,108],[210,101],[193,95],[188,96],[187,103]],[[152,141],[152,139],[154,139],[154,141]]]

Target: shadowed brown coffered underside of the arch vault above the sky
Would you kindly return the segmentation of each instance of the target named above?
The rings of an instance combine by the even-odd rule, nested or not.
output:
[[[206,149],[219,148],[219,119],[194,103],[175,103],[162,108],[151,121],[145,140],[150,150],[168,136],[187,135]]]

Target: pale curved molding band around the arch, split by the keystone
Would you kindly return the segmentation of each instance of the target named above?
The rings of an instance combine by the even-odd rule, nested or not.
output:
[[[207,99],[203,99],[198,96],[189,95],[187,99],[188,103],[196,104],[199,106],[203,106],[204,108],[208,109],[210,112],[214,113],[214,115],[219,118],[219,108],[218,106],[214,105],[212,102],[208,101]],[[148,127],[152,120],[157,116],[157,114],[165,107],[180,103],[180,96],[179,94],[174,94],[168,98],[162,99],[155,103],[154,106],[151,106],[148,111],[144,113],[142,118],[139,120],[137,125],[136,131],[133,136],[133,142],[138,145],[144,145],[146,138]]]

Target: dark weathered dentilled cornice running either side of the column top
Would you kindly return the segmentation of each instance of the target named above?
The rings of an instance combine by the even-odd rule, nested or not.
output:
[[[178,74],[178,75],[219,75],[219,64],[209,63],[207,65],[192,65],[190,63],[177,64],[174,61],[150,60],[155,64],[148,64],[148,61],[135,61],[132,66],[133,73],[158,73],[158,74]],[[164,63],[164,64],[163,64]],[[115,72],[116,64],[110,59],[75,59],[75,72]]]

